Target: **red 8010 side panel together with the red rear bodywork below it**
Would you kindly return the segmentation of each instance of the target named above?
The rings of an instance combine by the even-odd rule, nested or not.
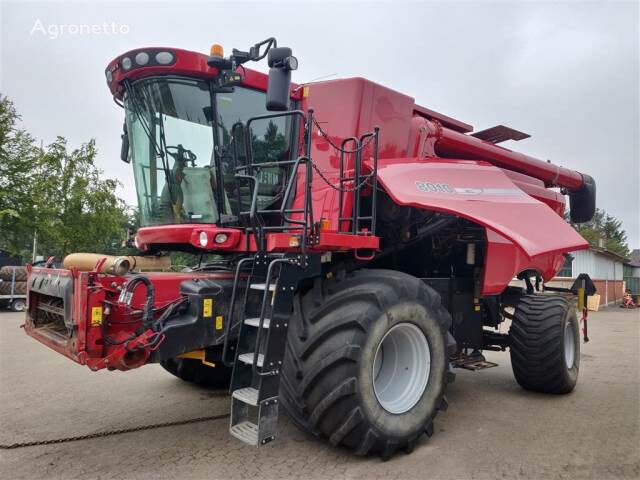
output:
[[[450,213],[486,227],[483,295],[500,293],[523,270],[536,270],[549,280],[562,267],[564,252],[588,247],[559,212],[485,162],[382,161],[378,176],[400,205]]]

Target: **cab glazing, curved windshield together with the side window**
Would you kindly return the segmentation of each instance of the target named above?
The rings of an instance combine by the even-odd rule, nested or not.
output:
[[[234,175],[247,161],[247,120],[267,113],[264,92],[212,93],[208,81],[157,77],[128,85],[124,105],[142,226],[218,223],[220,212],[248,209],[250,185]],[[255,121],[251,131],[255,163],[289,159],[290,120]],[[254,172],[260,208],[281,199],[286,170]]]

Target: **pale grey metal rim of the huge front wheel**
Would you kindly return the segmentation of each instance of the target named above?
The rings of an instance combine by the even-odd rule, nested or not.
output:
[[[373,390],[389,413],[411,410],[422,397],[431,370],[431,351],[413,323],[393,326],[378,344],[373,360]]]

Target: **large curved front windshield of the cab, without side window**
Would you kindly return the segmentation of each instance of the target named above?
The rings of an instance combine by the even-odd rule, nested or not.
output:
[[[141,224],[217,222],[208,84],[142,80],[125,109]]]

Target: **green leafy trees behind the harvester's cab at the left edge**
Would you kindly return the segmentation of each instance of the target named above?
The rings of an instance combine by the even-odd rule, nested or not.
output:
[[[119,253],[132,212],[115,195],[119,182],[96,167],[95,141],[70,150],[58,137],[41,147],[19,120],[0,96],[0,248],[29,260],[37,234],[45,257]]]

